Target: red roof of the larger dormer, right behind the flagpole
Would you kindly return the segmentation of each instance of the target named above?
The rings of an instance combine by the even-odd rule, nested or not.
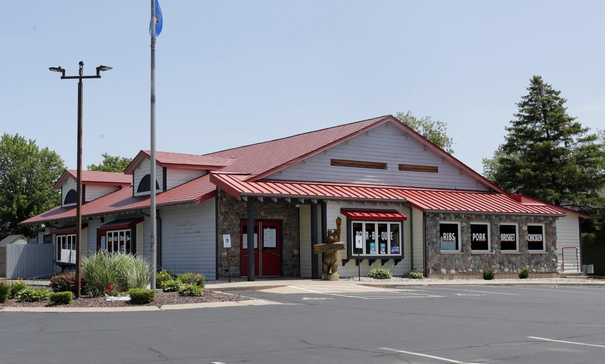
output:
[[[132,174],[142,158],[151,158],[149,150],[142,150],[132,159],[124,173]],[[208,155],[192,155],[184,153],[155,152],[155,161],[160,167],[195,168],[203,170],[217,170],[225,167],[230,158],[221,158]]]

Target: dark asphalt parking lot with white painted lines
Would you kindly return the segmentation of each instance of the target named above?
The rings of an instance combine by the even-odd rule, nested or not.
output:
[[[0,363],[603,363],[605,289],[353,283],[258,307],[0,314]]]

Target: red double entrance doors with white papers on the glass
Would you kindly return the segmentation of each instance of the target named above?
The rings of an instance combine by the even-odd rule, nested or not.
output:
[[[248,276],[248,231],[247,222],[241,222],[240,269],[243,277]],[[254,222],[254,275],[281,275],[281,222]]]

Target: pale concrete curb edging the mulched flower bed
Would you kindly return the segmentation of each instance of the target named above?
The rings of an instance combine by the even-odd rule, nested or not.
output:
[[[38,313],[87,313],[87,312],[133,312],[133,311],[170,311],[189,310],[191,308],[244,307],[262,305],[283,305],[281,302],[264,299],[247,299],[246,301],[205,302],[195,304],[178,304],[132,307],[0,307],[0,312],[38,312]]]

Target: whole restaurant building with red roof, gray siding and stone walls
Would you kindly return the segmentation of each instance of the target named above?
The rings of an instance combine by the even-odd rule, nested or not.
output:
[[[124,173],[83,173],[84,254],[149,257],[149,163],[142,150]],[[391,115],[206,155],[157,152],[157,166],[163,269],[247,276],[253,232],[255,276],[316,278],[313,245],[338,217],[341,277],[373,267],[439,278],[486,269],[554,276],[581,266],[579,226],[588,216],[506,193]],[[62,205],[22,222],[54,244],[57,270],[75,249],[74,185],[66,170],[55,185]]]

